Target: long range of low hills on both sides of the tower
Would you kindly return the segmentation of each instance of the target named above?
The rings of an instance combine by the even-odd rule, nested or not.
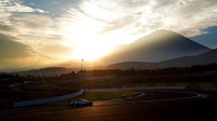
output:
[[[124,62],[117,63],[108,66],[98,66],[98,67],[87,67],[85,69],[157,69],[157,68],[169,68],[169,67],[189,67],[193,65],[207,65],[207,64],[217,64],[217,49],[209,52],[195,55],[195,56],[183,56],[174,59],[168,59],[159,63],[144,63],[144,62]],[[69,73],[72,71],[78,71],[80,68],[62,68],[62,67],[51,67],[42,68],[27,71],[18,71],[20,76],[35,76],[35,77],[52,77],[60,76],[62,73]]]

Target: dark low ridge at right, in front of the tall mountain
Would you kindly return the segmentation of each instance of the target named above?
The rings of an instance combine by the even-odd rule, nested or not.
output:
[[[168,67],[189,67],[193,65],[207,65],[217,64],[217,49],[209,52],[195,55],[195,56],[183,56],[174,59],[168,59],[159,63],[143,63],[143,62],[125,62],[106,66],[107,69],[156,69],[156,68],[168,68]]]

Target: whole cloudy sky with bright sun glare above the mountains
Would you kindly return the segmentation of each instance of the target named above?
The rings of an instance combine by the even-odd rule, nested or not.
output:
[[[157,29],[193,37],[216,26],[217,0],[0,0],[0,69],[94,59]]]

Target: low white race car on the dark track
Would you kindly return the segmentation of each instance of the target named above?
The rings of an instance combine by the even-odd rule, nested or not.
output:
[[[72,100],[69,103],[71,107],[85,107],[85,106],[92,106],[93,103],[91,100],[80,99],[80,100]]]

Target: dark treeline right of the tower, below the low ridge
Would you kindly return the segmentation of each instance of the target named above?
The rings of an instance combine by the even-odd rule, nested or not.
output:
[[[89,70],[93,77],[99,76],[162,76],[162,75],[184,75],[184,73],[202,73],[208,71],[217,71],[217,64],[196,65],[192,67],[173,67],[163,69],[106,69],[106,70]]]

